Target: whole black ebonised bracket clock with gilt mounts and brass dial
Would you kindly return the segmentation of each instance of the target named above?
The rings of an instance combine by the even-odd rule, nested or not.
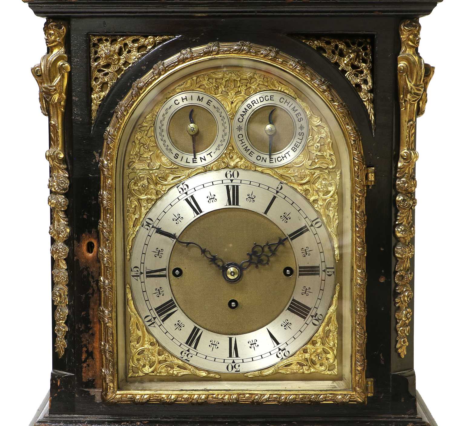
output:
[[[436,3],[28,1],[54,302],[36,425],[434,426],[412,258]]]

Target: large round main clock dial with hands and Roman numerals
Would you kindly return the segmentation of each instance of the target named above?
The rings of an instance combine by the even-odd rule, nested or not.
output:
[[[139,314],[169,352],[214,372],[251,372],[316,332],[335,258],[300,193],[267,174],[222,169],[188,178],[153,205],[130,277]]]

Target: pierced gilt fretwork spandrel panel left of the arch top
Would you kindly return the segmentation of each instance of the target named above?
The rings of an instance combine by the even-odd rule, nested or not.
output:
[[[91,120],[102,100],[132,64],[174,35],[90,35]]]

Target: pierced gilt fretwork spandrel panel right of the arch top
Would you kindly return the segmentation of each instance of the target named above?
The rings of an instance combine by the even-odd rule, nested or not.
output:
[[[369,114],[375,130],[374,95],[372,82],[372,43],[369,38],[333,38],[295,35],[320,52],[345,75],[356,89]]]

